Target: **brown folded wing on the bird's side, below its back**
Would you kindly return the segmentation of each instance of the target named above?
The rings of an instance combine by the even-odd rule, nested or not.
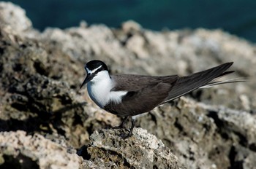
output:
[[[162,103],[167,97],[171,87],[172,84],[162,82],[148,84],[148,87],[127,93],[121,103],[108,103],[104,109],[121,117],[142,114],[151,111],[158,106],[159,103]]]

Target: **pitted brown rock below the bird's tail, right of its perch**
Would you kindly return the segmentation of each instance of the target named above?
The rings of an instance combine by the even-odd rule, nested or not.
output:
[[[187,168],[231,168],[255,164],[255,124],[249,112],[181,97],[141,117],[137,125],[160,138]],[[241,156],[244,152],[248,156]]]

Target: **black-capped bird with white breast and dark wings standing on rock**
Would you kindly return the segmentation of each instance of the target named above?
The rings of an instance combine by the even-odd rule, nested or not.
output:
[[[97,106],[118,117],[124,117],[121,125],[112,128],[127,130],[128,133],[120,134],[121,138],[125,139],[132,136],[135,119],[157,106],[173,101],[198,88],[241,82],[234,79],[214,81],[233,73],[234,71],[227,71],[232,65],[233,62],[223,63],[188,76],[112,75],[103,61],[90,60],[84,67],[87,74],[80,88],[87,84],[89,96]],[[128,130],[124,125],[129,118],[132,125]]]

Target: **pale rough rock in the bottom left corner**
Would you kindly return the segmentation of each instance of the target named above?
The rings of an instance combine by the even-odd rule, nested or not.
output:
[[[26,132],[0,133],[1,168],[79,168],[76,154],[45,139]]]

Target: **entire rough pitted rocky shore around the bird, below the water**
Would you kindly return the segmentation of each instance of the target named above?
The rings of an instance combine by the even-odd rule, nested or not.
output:
[[[23,9],[1,2],[0,163],[4,166],[21,160],[26,163],[22,166],[44,168],[39,162],[43,154],[33,148],[42,140],[44,144],[39,147],[49,153],[57,151],[60,157],[56,164],[45,157],[45,166],[66,164],[58,163],[63,157],[79,168],[140,168],[145,157],[138,159],[140,165],[132,162],[131,151],[118,148],[127,145],[132,150],[135,143],[145,148],[148,146],[143,146],[143,141],[160,139],[166,147],[162,152],[140,151],[161,157],[153,158],[153,162],[148,157],[146,167],[160,166],[157,162],[169,155],[170,161],[165,163],[170,166],[255,168],[255,55],[255,44],[221,30],[203,28],[156,32],[128,21],[121,28],[81,23],[75,28],[48,28],[39,33]],[[136,140],[135,134],[121,141],[113,131],[94,133],[118,125],[120,118],[95,106],[86,89],[79,90],[85,76],[84,63],[91,59],[104,60],[114,74],[151,75],[186,75],[234,61],[236,74],[231,78],[248,77],[249,82],[197,90],[166,103],[137,122],[137,127],[158,139],[151,135]],[[80,157],[75,149],[81,152]]]

